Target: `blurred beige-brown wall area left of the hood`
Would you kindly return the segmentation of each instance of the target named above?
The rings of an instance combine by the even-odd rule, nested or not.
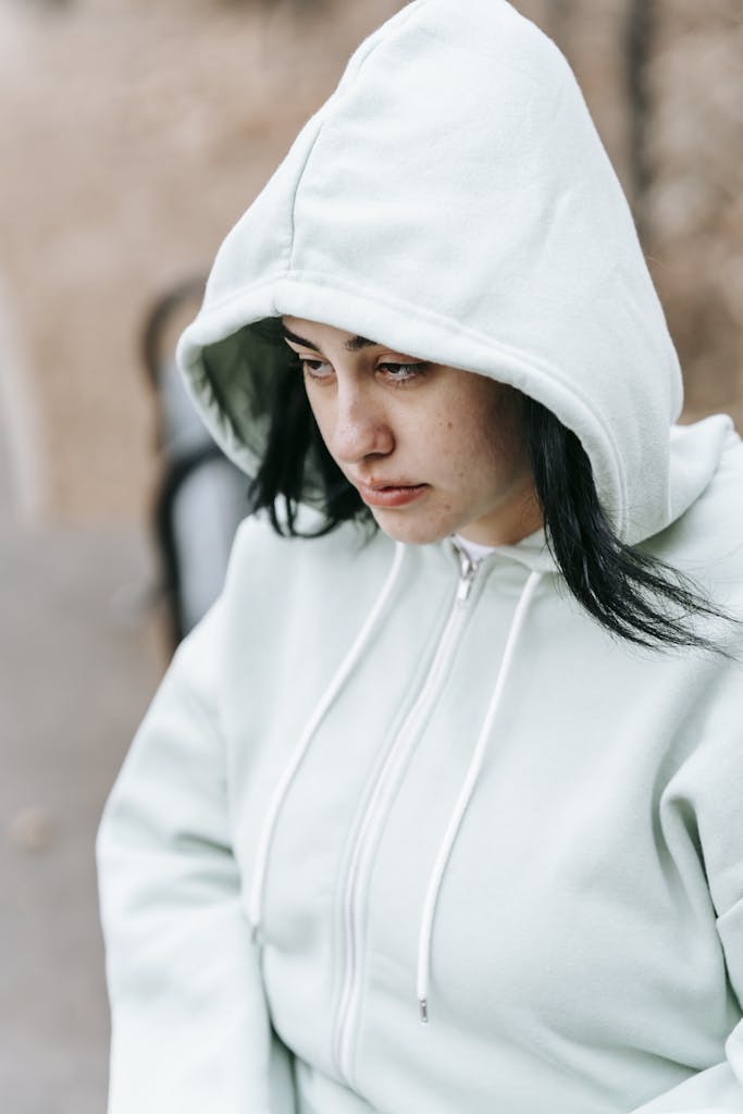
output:
[[[0,321],[13,326],[0,408],[32,516],[146,514],[157,459],[143,317],[208,266],[398,4],[348,0],[320,21],[309,7],[0,0]]]

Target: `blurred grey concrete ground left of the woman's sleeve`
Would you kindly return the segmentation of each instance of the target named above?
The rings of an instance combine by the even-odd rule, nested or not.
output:
[[[1,434],[1,429],[0,429]],[[0,442],[0,1110],[102,1114],[94,839],[164,664],[133,528],[13,520]]]

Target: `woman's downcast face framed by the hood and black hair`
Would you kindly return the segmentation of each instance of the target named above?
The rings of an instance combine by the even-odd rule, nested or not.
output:
[[[518,391],[331,325],[283,324],[327,451],[385,534],[512,545],[541,525]]]

